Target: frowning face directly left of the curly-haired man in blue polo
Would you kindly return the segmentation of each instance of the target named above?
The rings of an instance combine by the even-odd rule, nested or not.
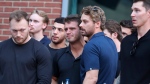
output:
[[[66,38],[69,43],[79,41],[82,36],[78,23],[75,21],[71,21],[69,23],[65,22],[65,31],[66,31]]]

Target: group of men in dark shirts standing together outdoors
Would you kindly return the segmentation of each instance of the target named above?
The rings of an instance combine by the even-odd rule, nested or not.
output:
[[[34,10],[29,18],[12,12],[12,37],[0,43],[0,84],[113,84],[118,72],[120,84],[149,84],[150,1],[133,0],[131,9],[136,31],[122,32],[131,34],[123,40],[118,30],[124,22],[106,21],[98,6],[56,18],[51,40],[43,35],[49,23],[44,11]]]

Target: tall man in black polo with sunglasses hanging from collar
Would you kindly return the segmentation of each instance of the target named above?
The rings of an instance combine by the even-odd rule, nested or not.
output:
[[[150,83],[150,0],[134,0],[132,23],[137,32],[121,43],[121,83]]]

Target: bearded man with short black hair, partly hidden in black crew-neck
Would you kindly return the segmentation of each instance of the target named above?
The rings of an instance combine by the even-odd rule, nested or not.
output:
[[[54,57],[57,50],[66,47],[66,33],[64,29],[64,18],[59,17],[54,20],[51,31],[51,43],[47,45],[51,56]]]

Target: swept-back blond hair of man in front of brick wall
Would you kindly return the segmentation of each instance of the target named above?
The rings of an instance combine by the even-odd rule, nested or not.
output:
[[[43,22],[46,23],[47,25],[49,24],[49,18],[47,16],[47,14],[42,11],[42,10],[33,10],[33,12],[31,14],[38,14],[39,16],[43,17]]]

